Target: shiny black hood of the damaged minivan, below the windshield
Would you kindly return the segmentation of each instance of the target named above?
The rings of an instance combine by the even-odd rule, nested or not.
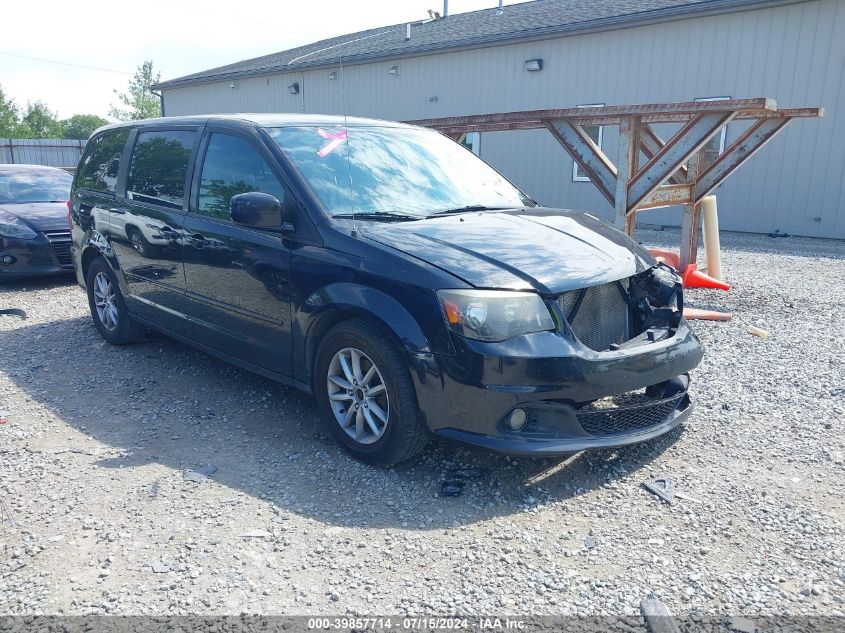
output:
[[[655,263],[623,232],[576,211],[464,213],[368,222],[360,230],[478,288],[556,294],[630,277]]]

